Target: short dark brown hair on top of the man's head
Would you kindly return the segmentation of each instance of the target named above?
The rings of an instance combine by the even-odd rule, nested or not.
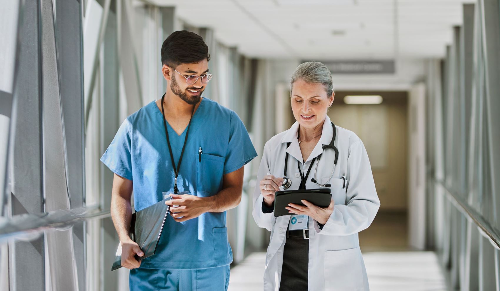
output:
[[[210,60],[208,46],[201,36],[191,31],[174,31],[161,45],[161,63],[174,68],[181,63],[197,63],[205,58]]]

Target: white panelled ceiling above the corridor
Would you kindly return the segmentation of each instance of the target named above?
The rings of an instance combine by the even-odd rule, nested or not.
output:
[[[253,57],[442,57],[461,0],[149,0]],[[468,1],[470,2],[470,1]],[[395,7],[397,3],[397,7]]]

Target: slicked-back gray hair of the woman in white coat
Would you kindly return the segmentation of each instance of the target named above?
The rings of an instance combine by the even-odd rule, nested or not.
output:
[[[303,80],[306,83],[319,83],[324,86],[326,95],[333,93],[333,80],[331,79],[330,69],[321,62],[308,61],[297,66],[290,80],[290,94],[293,83],[297,80]]]

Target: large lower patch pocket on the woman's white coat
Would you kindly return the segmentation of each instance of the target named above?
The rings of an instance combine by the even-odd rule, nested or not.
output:
[[[325,290],[363,290],[363,280],[359,247],[324,252]]]

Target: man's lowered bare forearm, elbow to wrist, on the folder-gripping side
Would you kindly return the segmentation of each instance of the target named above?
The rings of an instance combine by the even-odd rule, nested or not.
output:
[[[130,220],[132,219],[130,201],[121,196],[113,196],[111,199],[111,218],[120,241],[130,239]]]

